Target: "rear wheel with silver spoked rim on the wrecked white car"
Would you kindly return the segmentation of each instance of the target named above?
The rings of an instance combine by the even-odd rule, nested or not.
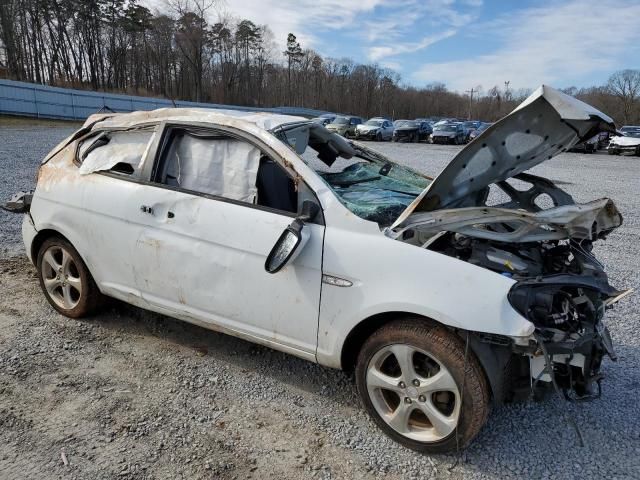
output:
[[[61,237],[46,239],[38,251],[36,267],[44,296],[62,315],[86,317],[104,303],[105,297],[89,269],[67,240]]]

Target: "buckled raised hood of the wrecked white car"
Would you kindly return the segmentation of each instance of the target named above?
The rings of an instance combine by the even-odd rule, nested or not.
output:
[[[610,117],[543,85],[463,148],[391,228],[412,213],[467,207],[465,199],[473,193],[514,177],[601,131],[615,132]]]

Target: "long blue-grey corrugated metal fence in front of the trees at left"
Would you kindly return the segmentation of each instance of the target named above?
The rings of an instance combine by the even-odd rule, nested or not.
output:
[[[114,112],[132,112],[173,106],[174,104],[171,100],[164,98],[90,92],[13,80],[0,80],[0,114],[84,120],[100,109],[110,109]],[[315,117],[327,113],[299,107],[253,108],[178,100],[176,100],[175,106],[272,112],[307,117]]]

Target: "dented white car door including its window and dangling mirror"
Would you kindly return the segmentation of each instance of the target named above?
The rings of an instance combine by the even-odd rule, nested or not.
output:
[[[169,314],[315,358],[324,226],[307,223],[295,261],[265,271],[310,197],[274,157],[226,127],[165,126],[135,214],[137,284]]]

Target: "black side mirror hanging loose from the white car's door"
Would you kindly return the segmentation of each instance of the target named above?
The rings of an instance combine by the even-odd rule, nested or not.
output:
[[[302,204],[302,214],[285,228],[264,262],[264,269],[277,273],[292,262],[309,240],[309,232],[304,230],[304,222],[312,220],[318,214],[319,207],[313,202]]]

